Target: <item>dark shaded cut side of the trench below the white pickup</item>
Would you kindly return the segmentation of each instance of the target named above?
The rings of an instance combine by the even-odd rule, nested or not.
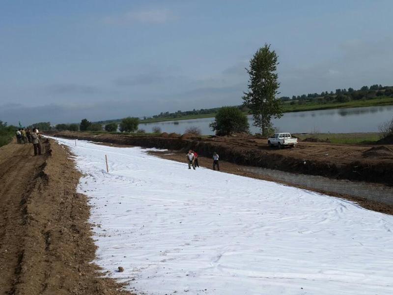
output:
[[[260,148],[231,146],[222,142],[206,141],[198,138],[134,137],[127,135],[90,135],[60,132],[53,136],[80,139],[117,145],[140,146],[144,148],[166,148],[171,150],[194,149],[198,154],[211,157],[214,151],[228,162],[252,167],[281,170],[291,173],[323,176],[334,179],[348,179],[393,185],[393,161],[359,161],[339,163],[335,159],[307,160],[293,157],[289,153],[266,152]]]

